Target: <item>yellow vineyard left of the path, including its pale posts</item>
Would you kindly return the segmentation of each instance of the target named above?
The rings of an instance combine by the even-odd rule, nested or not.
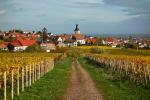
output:
[[[13,99],[54,67],[59,53],[1,53],[0,99]],[[11,93],[9,91],[11,90]]]

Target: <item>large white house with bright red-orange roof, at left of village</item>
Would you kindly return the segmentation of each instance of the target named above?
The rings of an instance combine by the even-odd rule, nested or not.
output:
[[[28,38],[16,37],[12,42],[8,44],[8,49],[10,51],[23,51],[26,50],[28,46],[36,44],[35,40]]]

